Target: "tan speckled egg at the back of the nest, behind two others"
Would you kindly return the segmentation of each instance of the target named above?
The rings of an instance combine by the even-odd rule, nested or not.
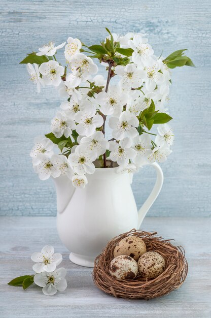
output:
[[[114,257],[128,255],[135,261],[146,252],[146,245],[143,239],[138,236],[126,236],[114,248]]]

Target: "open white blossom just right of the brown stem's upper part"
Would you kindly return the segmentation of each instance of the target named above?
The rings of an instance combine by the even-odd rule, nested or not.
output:
[[[146,76],[145,72],[137,69],[134,64],[128,64],[126,67],[118,65],[115,68],[115,74],[122,77],[120,85],[123,88],[138,88],[142,86],[143,78]]]

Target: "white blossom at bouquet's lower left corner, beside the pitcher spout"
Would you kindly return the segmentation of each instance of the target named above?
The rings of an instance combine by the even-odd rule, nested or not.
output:
[[[53,178],[60,176],[61,171],[58,170],[56,162],[56,154],[53,154],[51,157],[47,156],[45,153],[39,153],[37,155],[34,170],[38,173],[41,180],[47,180],[50,176]]]

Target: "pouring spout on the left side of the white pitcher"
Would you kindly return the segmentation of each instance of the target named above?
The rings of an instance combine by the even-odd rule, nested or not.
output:
[[[69,201],[71,201],[76,188],[73,186],[72,181],[65,175],[53,178],[53,180],[56,186],[57,211],[58,213],[62,213]]]

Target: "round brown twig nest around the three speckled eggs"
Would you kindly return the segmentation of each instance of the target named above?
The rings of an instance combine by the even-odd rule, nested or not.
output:
[[[136,231],[123,233],[113,238],[102,253],[95,259],[93,280],[103,292],[115,297],[128,299],[151,299],[161,297],[178,289],[185,281],[188,273],[188,263],[182,246],[173,246],[169,241],[150,233]],[[109,274],[115,245],[126,236],[138,236],[146,244],[147,251],[157,251],[165,259],[166,267],[162,274],[154,279],[142,278],[138,275],[133,280],[118,280]]]

